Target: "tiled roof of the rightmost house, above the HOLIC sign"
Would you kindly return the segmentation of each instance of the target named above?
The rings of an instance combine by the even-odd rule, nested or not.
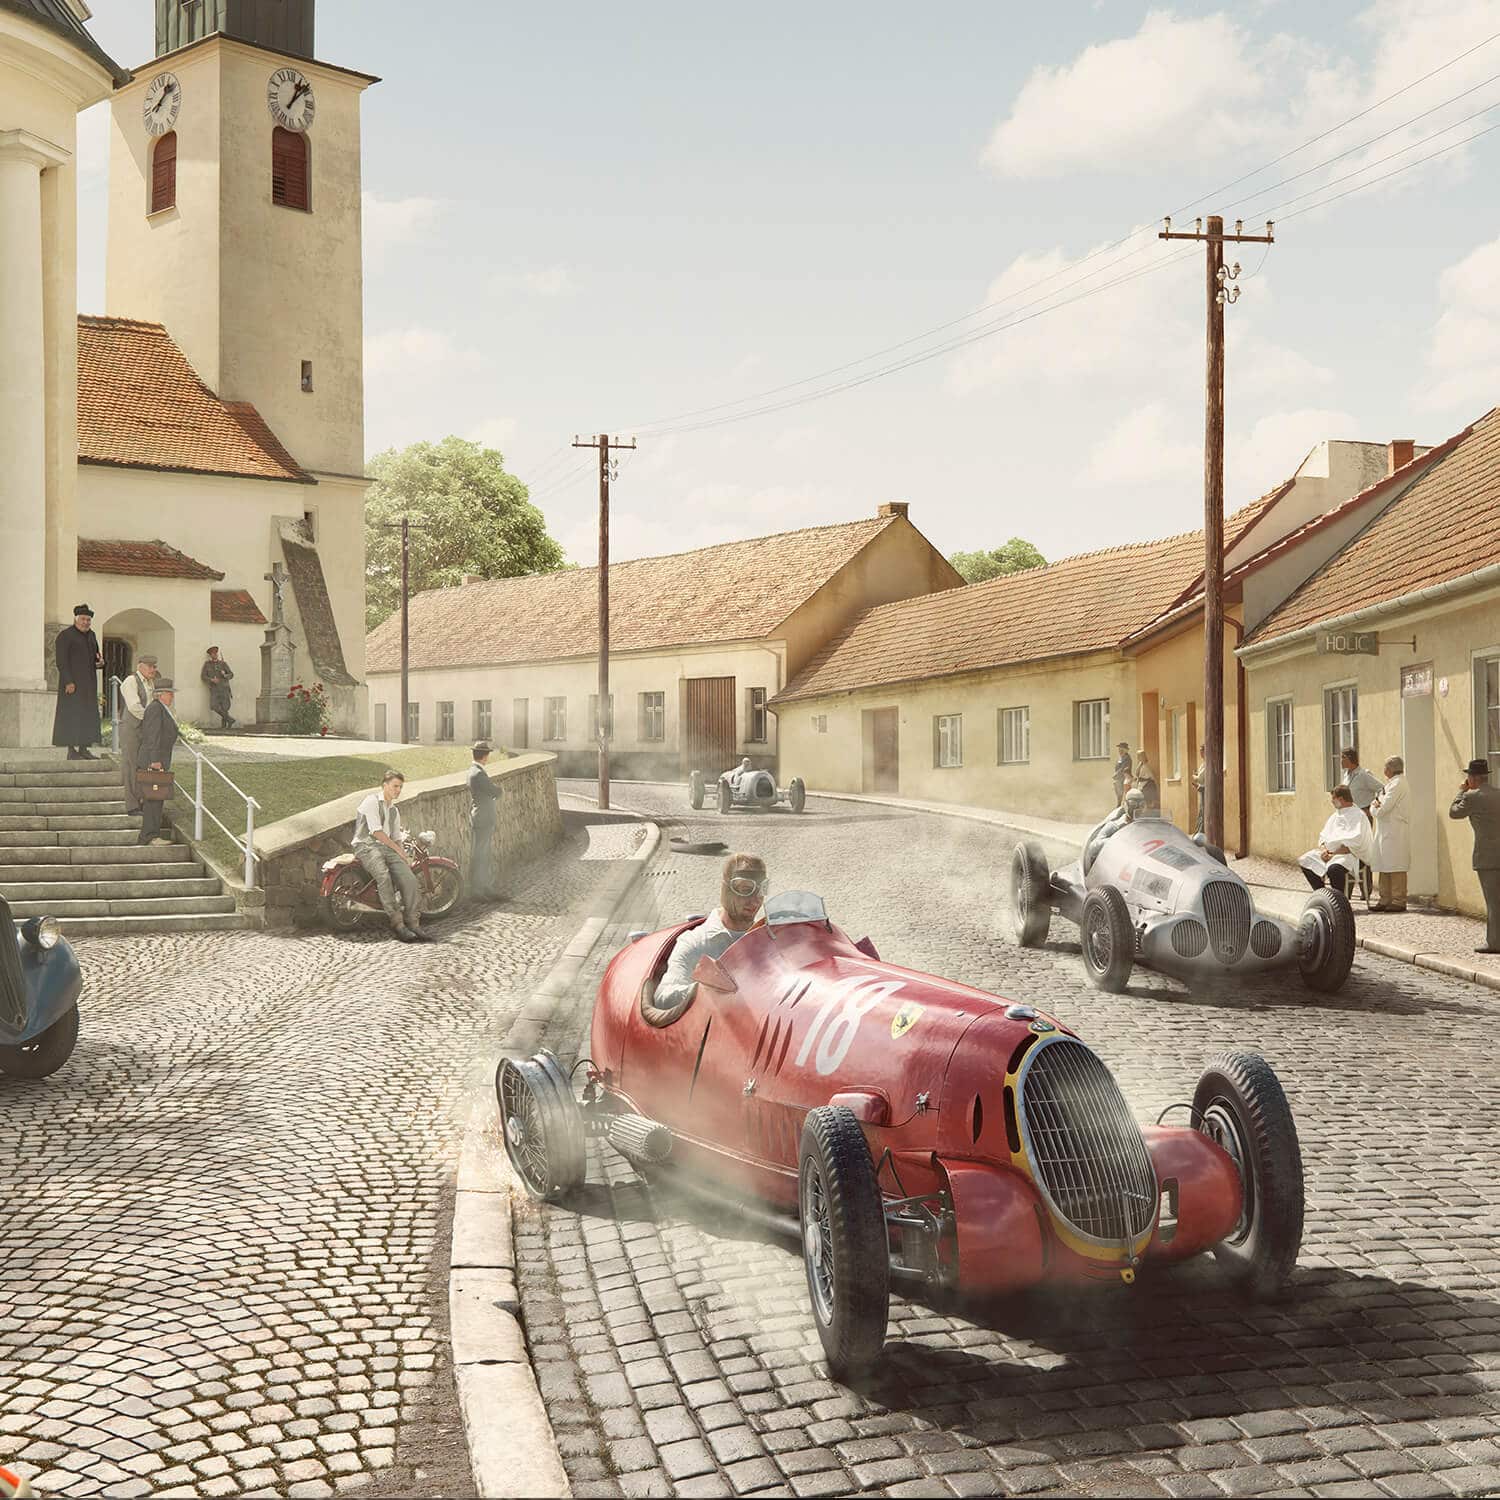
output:
[[[1438,462],[1250,634],[1263,645],[1500,562],[1500,406],[1434,450]]]

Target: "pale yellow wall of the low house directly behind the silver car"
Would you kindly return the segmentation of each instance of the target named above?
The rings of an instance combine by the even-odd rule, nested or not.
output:
[[[1107,741],[1136,735],[1136,675],[1116,652],[1038,666],[906,682],[784,705],[778,712],[783,776],[808,788],[867,790],[864,711],[900,712],[898,795],[1095,822],[1113,804],[1113,750],[1100,760],[1074,759],[1074,704],[1107,698]],[[1030,760],[999,764],[999,710],[1030,708]],[[934,718],[963,716],[963,765],[934,765]]]

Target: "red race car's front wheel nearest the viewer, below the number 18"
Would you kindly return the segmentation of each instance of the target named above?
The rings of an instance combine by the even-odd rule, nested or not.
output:
[[[828,1374],[846,1380],[885,1347],[891,1252],[880,1185],[854,1113],[810,1110],[798,1152],[802,1266]]]

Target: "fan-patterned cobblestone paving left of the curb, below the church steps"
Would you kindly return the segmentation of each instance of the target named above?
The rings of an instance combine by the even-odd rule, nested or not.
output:
[[[471,1492],[464,1094],[639,837],[570,820],[424,948],[81,939],[75,1056],[0,1078],[0,1461],[42,1494]]]

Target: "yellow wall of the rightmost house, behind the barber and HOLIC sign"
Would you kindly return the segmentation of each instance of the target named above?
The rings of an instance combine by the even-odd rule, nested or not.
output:
[[[1473,836],[1467,822],[1449,819],[1448,806],[1462,778],[1464,762],[1474,754],[1474,662],[1500,656],[1500,591],[1392,614],[1378,621],[1378,633],[1390,644],[1377,657],[1317,656],[1314,642],[1308,640],[1290,651],[1246,660],[1251,849],[1294,860],[1314,843],[1329,813],[1323,693],[1352,682],[1359,690],[1360,759],[1377,776],[1386,756],[1407,759],[1413,844],[1424,837],[1418,825],[1425,820],[1425,837],[1436,855],[1436,880],[1422,882],[1436,885],[1436,892],[1420,890],[1413,879],[1412,894],[1436,894],[1443,906],[1482,914],[1479,882],[1472,868]],[[1413,636],[1416,648],[1394,644]],[[1425,704],[1404,705],[1401,669],[1422,663],[1432,666],[1431,698]],[[1269,789],[1266,704],[1282,696],[1290,696],[1293,704],[1293,792]],[[1424,720],[1428,711],[1430,729]]]

